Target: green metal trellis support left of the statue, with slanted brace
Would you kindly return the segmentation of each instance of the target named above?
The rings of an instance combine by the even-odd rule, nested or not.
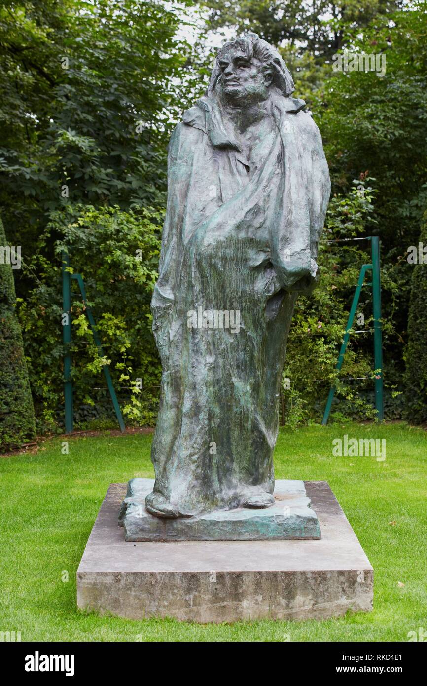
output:
[[[90,329],[92,329],[93,340],[98,349],[99,357],[103,357],[101,341],[97,333],[97,327],[92,311],[87,303],[86,289],[81,274],[71,274],[69,271],[70,259],[67,252],[62,252],[62,313],[66,315],[62,322],[62,339],[64,341],[64,405],[65,405],[65,433],[71,434],[73,431],[73,382],[71,381],[71,279],[77,281],[80,293],[82,294],[83,303],[86,308]],[[103,365],[103,373],[106,377],[108,391],[114,407],[114,412],[119,422],[120,430],[125,431],[125,423],[121,414],[119,401],[114,390],[112,378],[108,365]]]

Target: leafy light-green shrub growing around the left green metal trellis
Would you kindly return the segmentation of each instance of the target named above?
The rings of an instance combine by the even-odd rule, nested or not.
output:
[[[114,418],[102,366],[110,367],[125,421],[152,425],[160,365],[151,333],[149,303],[157,279],[162,212],[118,206],[67,205],[51,213],[40,249],[25,265],[32,287],[19,315],[25,338],[40,431],[62,430],[62,250],[71,271],[82,274],[103,346],[97,352],[77,282],[72,280],[75,425]],[[49,247],[54,245],[54,252]],[[142,379],[142,390],[136,379]]]

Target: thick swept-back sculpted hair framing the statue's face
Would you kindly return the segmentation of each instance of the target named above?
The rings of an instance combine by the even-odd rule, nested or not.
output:
[[[207,91],[208,95],[212,95],[217,84],[221,82],[222,71],[219,66],[219,60],[228,54],[230,50],[236,48],[241,50],[248,60],[252,60],[252,57],[255,57],[263,63],[264,68],[271,69],[271,72],[273,73],[273,84],[284,97],[289,97],[289,95],[295,91],[291,72],[286,67],[284,60],[282,60],[278,51],[267,43],[267,41],[259,38],[258,34],[249,33],[241,38],[232,40],[230,43],[225,43],[219,50],[212,69],[212,74],[210,75]]]

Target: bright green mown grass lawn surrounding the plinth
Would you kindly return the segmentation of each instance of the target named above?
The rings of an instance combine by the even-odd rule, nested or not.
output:
[[[386,438],[386,460],[333,457],[332,440],[343,434]],[[99,506],[111,482],[153,475],[151,435],[70,438],[68,455],[61,440],[0,459],[0,630],[21,631],[23,641],[407,641],[408,631],[427,629],[426,431],[282,429],[276,477],[329,482],[374,567],[374,611],[219,626],[77,612],[75,573]]]

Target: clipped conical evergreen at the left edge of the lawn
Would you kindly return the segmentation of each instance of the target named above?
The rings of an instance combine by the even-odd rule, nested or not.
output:
[[[9,250],[8,250],[9,248]],[[34,438],[36,425],[16,296],[10,246],[0,217],[0,448],[19,447]]]

